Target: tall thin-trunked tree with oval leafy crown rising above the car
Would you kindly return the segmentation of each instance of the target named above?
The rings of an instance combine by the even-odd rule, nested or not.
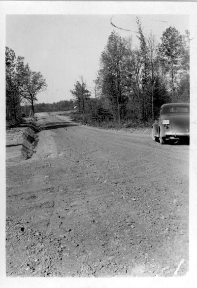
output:
[[[161,63],[165,71],[170,75],[171,101],[174,101],[176,73],[179,69],[183,52],[183,38],[175,27],[167,28],[161,37],[162,43],[159,47]]]

